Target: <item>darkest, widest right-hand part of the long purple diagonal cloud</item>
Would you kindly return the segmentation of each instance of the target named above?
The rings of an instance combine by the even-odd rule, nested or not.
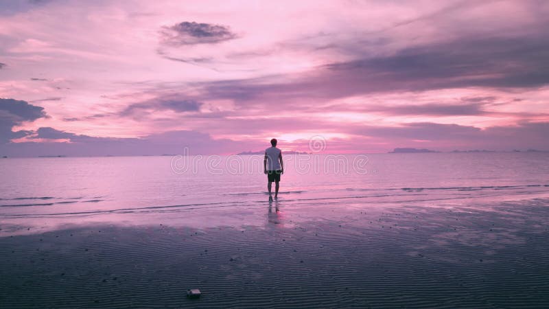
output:
[[[549,83],[549,39],[482,38],[404,49],[394,55],[327,65],[314,82],[349,82],[347,91],[454,87],[540,87]],[[337,94],[337,93],[336,93]]]

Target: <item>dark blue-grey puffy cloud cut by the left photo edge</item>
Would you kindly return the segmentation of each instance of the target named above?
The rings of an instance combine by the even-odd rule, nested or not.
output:
[[[30,134],[30,131],[12,131],[13,126],[21,122],[34,121],[46,117],[44,108],[34,106],[25,101],[14,99],[0,99],[0,144],[11,139],[18,139]]]

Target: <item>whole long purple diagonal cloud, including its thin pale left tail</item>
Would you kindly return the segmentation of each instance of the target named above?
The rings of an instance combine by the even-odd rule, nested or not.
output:
[[[449,43],[431,43],[393,54],[334,62],[305,73],[224,80],[202,84],[202,87],[203,100],[224,98],[255,103],[261,99],[293,104],[300,98],[332,100],[394,91],[467,87],[524,89],[547,84],[549,37],[502,34],[462,37]]]

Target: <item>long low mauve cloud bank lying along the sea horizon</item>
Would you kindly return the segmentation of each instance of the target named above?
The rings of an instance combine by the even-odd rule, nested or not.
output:
[[[549,150],[549,122],[520,122],[515,126],[493,126],[485,129],[456,124],[436,124],[430,122],[391,126],[362,126],[348,128],[353,135],[355,148],[349,149],[347,139],[329,139],[327,151],[354,152],[366,151],[372,145],[382,145],[381,149],[393,150],[397,147],[430,148],[432,150],[513,150],[515,148]],[[30,133],[27,133],[27,135]],[[55,128],[39,128],[34,132],[40,139],[68,139],[69,142],[9,143],[0,145],[0,152],[9,156],[68,155],[163,155],[182,154],[184,149],[191,155],[231,154],[244,150],[261,149],[265,141],[213,139],[207,133],[195,130],[172,130],[148,135],[142,138],[111,138],[76,135]],[[303,145],[301,145],[301,144]],[[307,141],[283,143],[285,146],[303,146]],[[374,148],[377,151],[380,148]]]

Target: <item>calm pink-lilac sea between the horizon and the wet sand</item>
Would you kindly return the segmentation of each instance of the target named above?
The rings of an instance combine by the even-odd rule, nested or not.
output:
[[[285,205],[337,209],[549,196],[549,152],[298,154],[285,155],[284,168],[278,198]],[[268,201],[260,155],[8,158],[0,159],[0,174],[1,222],[43,228],[46,218],[55,226],[139,222],[139,214],[171,217]]]

